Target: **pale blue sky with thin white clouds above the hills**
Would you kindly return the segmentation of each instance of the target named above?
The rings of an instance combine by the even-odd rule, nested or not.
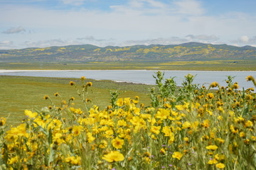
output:
[[[203,42],[256,47],[255,0],[0,0],[0,50]]]

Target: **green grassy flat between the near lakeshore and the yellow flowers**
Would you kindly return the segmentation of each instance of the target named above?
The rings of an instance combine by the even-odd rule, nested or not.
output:
[[[58,105],[60,98],[54,96],[56,92],[65,101],[74,97],[76,107],[82,107],[80,96],[69,85],[71,80],[76,83],[79,81],[79,79],[0,76],[0,117],[8,117],[6,123],[9,125],[18,125],[21,123],[26,109],[35,111],[48,106],[48,102],[43,100],[43,96],[50,96]],[[92,91],[89,91],[88,98],[95,102],[92,103],[93,105],[100,108],[110,105],[110,91],[114,89],[121,93],[120,97],[129,96],[133,98],[134,96],[140,96],[141,102],[149,104],[149,96],[147,95],[151,87],[149,85],[95,81],[92,79],[86,79],[85,81],[92,81]]]

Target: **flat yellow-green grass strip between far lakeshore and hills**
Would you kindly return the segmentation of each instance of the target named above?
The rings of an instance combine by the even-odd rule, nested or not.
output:
[[[84,63],[4,63],[0,69],[162,69],[255,71],[255,60],[218,60],[200,62],[84,62]]]

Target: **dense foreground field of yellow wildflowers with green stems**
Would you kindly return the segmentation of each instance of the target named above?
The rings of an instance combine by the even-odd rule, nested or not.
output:
[[[111,91],[100,110],[87,98],[93,84],[81,77],[70,81],[80,98],[44,96],[49,106],[25,111],[17,127],[0,118],[0,169],[256,169],[253,88],[240,91],[233,77],[208,87],[191,74],[182,87],[161,72],[154,77],[150,106]]]

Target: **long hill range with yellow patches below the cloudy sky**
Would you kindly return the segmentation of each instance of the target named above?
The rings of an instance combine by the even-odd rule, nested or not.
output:
[[[256,47],[188,42],[181,45],[127,47],[68,45],[0,50],[0,62],[193,62],[213,60],[256,60]]]

